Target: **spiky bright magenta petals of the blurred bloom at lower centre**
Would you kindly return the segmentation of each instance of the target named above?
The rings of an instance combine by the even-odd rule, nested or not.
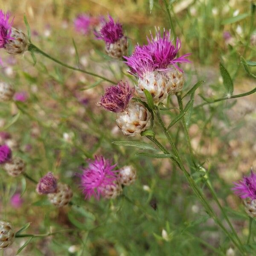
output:
[[[117,171],[113,171],[116,167],[111,166],[110,160],[104,157],[95,157],[94,161],[89,162],[89,166],[83,169],[83,173],[79,175],[81,179],[81,188],[86,199],[94,196],[99,200],[100,195],[105,195],[105,187],[114,185],[117,180]]]

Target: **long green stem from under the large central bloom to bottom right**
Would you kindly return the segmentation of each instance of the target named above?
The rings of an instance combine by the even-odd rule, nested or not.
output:
[[[160,124],[160,127],[162,128],[162,130],[164,131],[164,133],[166,134],[166,137],[170,143],[170,145],[172,146],[172,149],[175,153],[175,156],[177,157],[177,162],[180,165],[180,169],[182,170],[182,172],[184,173],[187,181],[189,182],[189,185],[191,186],[192,190],[195,192],[195,195],[198,197],[198,199],[201,201],[201,203],[203,204],[204,208],[206,209],[207,213],[209,214],[210,217],[212,217],[216,224],[219,225],[219,227],[221,227],[221,229],[224,231],[224,233],[230,238],[231,241],[233,241],[233,243],[236,245],[236,247],[239,249],[239,251],[242,253],[242,255],[244,255],[244,251],[242,246],[240,246],[240,244],[237,243],[237,241],[233,238],[233,236],[227,231],[227,229],[223,226],[223,224],[221,223],[221,221],[218,219],[218,216],[215,214],[214,210],[212,209],[212,207],[209,205],[207,198],[205,198],[204,194],[201,192],[201,189],[198,188],[198,185],[195,183],[195,181],[192,179],[192,177],[190,176],[190,174],[186,171],[186,169],[184,168],[180,156],[177,152],[177,148],[175,146],[175,144],[172,141],[172,137],[169,134],[169,131],[167,130],[167,128],[165,127],[163,120],[160,116],[160,112],[159,109],[157,108],[156,111],[156,116],[158,119],[158,122]]]

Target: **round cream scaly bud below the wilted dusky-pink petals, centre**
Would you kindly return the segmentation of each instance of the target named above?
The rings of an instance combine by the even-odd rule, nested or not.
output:
[[[135,136],[149,126],[151,114],[139,102],[130,102],[125,111],[118,113],[116,123],[126,135]]]

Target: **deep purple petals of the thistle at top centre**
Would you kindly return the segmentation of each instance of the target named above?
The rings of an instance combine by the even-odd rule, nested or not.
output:
[[[107,45],[113,44],[124,36],[122,25],[119,22],[114,23],[113,18],[108,15],[109,21],[106,20],[99,32],[94,31],[98,40],[104,40]]]

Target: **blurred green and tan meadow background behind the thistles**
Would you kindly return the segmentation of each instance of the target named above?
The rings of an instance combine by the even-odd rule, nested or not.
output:
[[[152,9],[150,3],[154,3]],[[181,40],[180,55],[192,53],[192,63],[183,64],[184,90],[204,80],[196,93],[195,106],[204,102],[201,96],[226,96],[218,70],[220,61],[234,79],[234,94],[256,87],[240,58],[256,61],[253,1],[169,3]],[[162,0],[0,0],[0,8],[11,12],[15,17],[13,26],[24,32],[26,15],[33,44],[55,58],[114,81],[128,79],[131,84],[125,64],[105,54],[104,43],[94,39],[93,29],[98,29],[102,17],[108,14],[119,20],[129,39],[129,54],[137,43],[146,43],[146,36],[150,31],[154,33],[155,27],[169,29]],[[75,29],[74,20],[80,14],[93,20],[87,33]],[[26,172],[35,180],[51,171],[69,183],[74,202],[82,206],[50,206],[25,177],[6,177],[0,170],[1,219],[11,221],[16,231],[30,222],[26,233],[32,234],[73,229],[34,238],[18,255],[218,255],[215,248],[223,254],[231,248],[237,254],[229,255],[239,255],[168,160],[139,157],[135,148],[112,144],[131,139],[118,131],[113,113],[96,106],[104,88],[109,86],[107,82],[67,70],[41,55],[36,55],[37,64],[33,66],[29,52],[10,56],[1,50],[0,57],[0,79],[12,83],[17,92],[25,95],[22,101],[0,103],[0,144],[7,143],[15,155],[26,161]],[[255,73],[255,67],[250,67],[250,72]],[[176,99],[171,102],[177,106]],[[209,170],[218,197],[241,237],[248,233],[247,216],[230,187],[256,165],[255,109],[255,94],[206,105],[193,111],[189,127],[193,149]],[[175,115],[175,111],[168,111],[164,119],[169,123]],[[186,141],[180,128],[178,124],[171,132],[187,160]],[[160,134],[160,129],[155,129]],[[161,134],[159,140],[166,143]],[[113,201],[84,200],[76,173],[84,166],[86,157],[99,154],[121,165],[132,163],[136,167],[136,183],[124,189],[132,202],[124,197]],[[218,211],[214,203],[212,206]],[[27,240],[15,239],[3,255],[16,255]]]

